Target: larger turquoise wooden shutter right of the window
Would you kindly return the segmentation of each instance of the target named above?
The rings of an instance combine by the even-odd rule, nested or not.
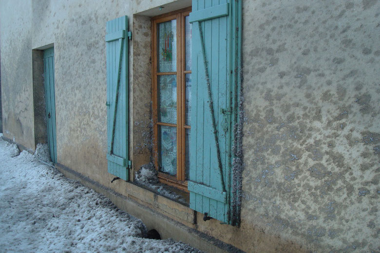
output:
[[[234,1],[234,0],[233,0]],[[192,0],[190,208],[230,223],[230,0]]]

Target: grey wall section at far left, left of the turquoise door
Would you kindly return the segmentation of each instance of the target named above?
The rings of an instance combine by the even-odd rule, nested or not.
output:
[[[4,136],[34,150],[31,4],[1,1],[1,100]]]

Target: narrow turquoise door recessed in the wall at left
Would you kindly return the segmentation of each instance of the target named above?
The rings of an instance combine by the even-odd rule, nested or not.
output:
[[[57,138],[56,138],[56,99],[54,93],[54,48],[48,48],[43,52],[43,65],[45,76],[45,102],[46,102],[46,127],[50,158],[57,163]]]

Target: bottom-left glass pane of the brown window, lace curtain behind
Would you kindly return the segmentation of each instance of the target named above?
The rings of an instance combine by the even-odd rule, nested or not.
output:
[[[177,175],[177,128],[158,126],[158,166],[161,172]]]

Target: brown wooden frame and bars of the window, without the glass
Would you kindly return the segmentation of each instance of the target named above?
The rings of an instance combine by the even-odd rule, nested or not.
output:
[[[185,70],[185,17],[189,16],[191,7],[173,11],[152,18],[152,118],[153,118],[153,158],[158,179],[162,183],[169,184],[183,191],[188,191],[188,183],[185,180],[185,160],[186,160],[186,129],[190,126],[185,125],[185,75],[191,71]],[[157,24],[176,19],[176,72],[157,72]],[[157,78],[159,75],[175,74],[177,78],[177,124],[158,122],[158,92]],[[179,102],[180,101],[180,102]],[[177,175],[171,176],[159,171],[158,167],[158,126],[176,127],[177,129]],[[189,152],[189,151],[188,151]]]

